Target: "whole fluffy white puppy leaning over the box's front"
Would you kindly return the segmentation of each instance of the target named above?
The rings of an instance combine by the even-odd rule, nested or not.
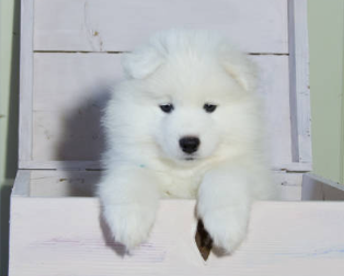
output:
[[[103,124],[103,216],[128,250],[144,242],[159,198],[196,198],[214,245],[243,240],[254,199],[274,194],[255,67],[221,36],[169,31],[123,59]]]

